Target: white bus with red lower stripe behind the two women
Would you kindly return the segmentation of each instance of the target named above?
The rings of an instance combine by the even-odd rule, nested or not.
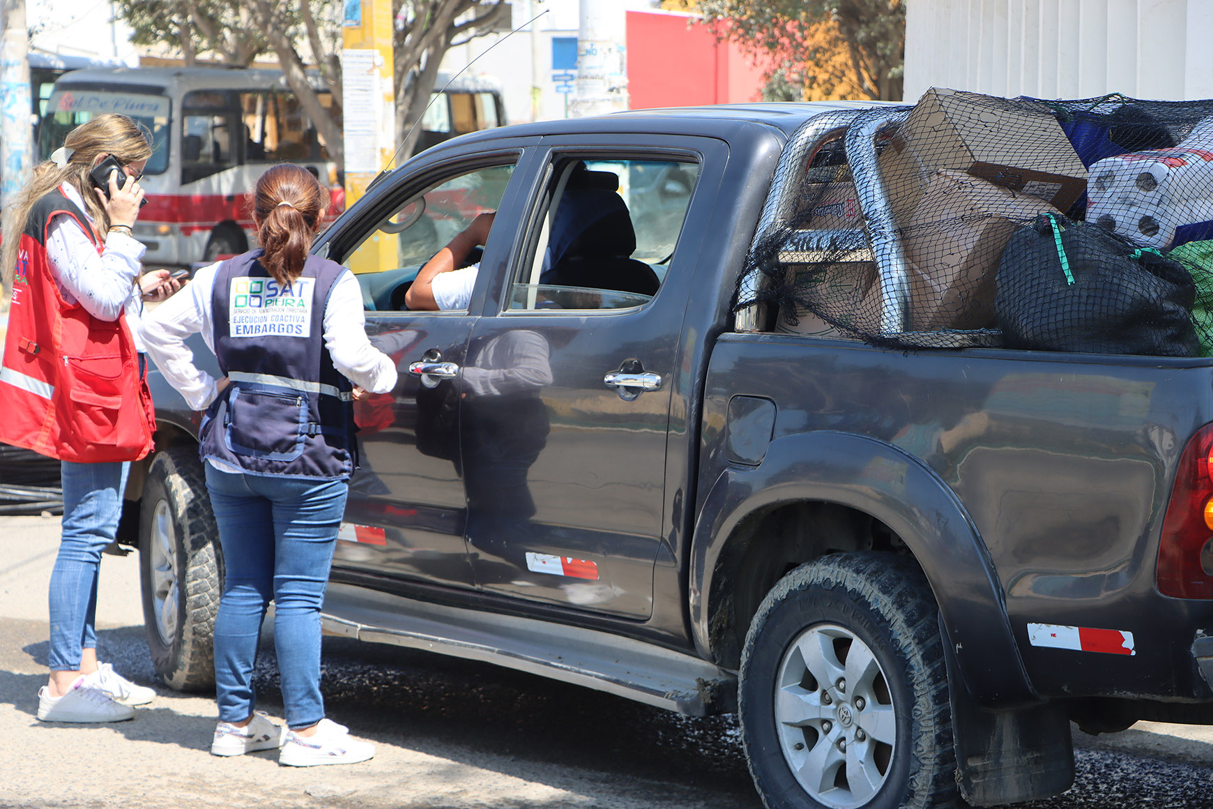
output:
[[[319,97],[331,106],[328,91]],[[331,189],[330,216],[344,207],[336,164],[280,70],[73,70],[47,101],[40,159],[101,113],[125,113],[152,132],[154,154],[142,181],[148,204],[135,226],[148,263],[211,261],[256,244],[246,194],[274,163],[315,173]]]

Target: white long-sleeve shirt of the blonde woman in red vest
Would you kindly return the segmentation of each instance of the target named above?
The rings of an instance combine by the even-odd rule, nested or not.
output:
[[[70,183],[59,186],[59,192],[84,211],[91,226],[80,192]],[[63,300],[79,303],[98,320],[113,321],[125,314],[138,351],[143,351],[138,334],[143,298],[137,279],[146,250],[129,235],[110,233],[98,255],[89,235],[66,213],[51,217],[46,233],[46,257]]]

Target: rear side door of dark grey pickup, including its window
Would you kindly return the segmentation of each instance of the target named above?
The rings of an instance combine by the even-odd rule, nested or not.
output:
[[[545,137],[533,198],[462,366],[461,456],[477,583],[651,614],[670,380],[727,146]],[[483,266],[482,266],[483,269]]]

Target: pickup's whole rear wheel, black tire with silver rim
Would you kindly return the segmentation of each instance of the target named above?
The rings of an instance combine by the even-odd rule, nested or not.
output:
[[[938,613],[918,566],[888,553],[824,557],[767,594],[738,712],[768,809],[956,805]],[[859,682],[839,688],[848,674]]]

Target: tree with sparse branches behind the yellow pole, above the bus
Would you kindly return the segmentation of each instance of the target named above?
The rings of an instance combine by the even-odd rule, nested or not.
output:
[[[272,53],[343,170],[342,0],[119,0],[119,7],[135,29],[136,45],[167,45],[187,64],[213,55],[226,64],[247,67]],[[443,56],[489,33],[505,10],[505,0],[392,0],[395,137],[402,160],[416,144],[416,124],[434,91]],[[332,92],[331,115],[308,81],[309,65],[319,69]]]

